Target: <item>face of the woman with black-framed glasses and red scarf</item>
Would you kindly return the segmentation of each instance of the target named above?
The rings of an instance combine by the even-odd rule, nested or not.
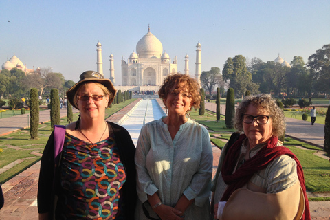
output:
[[[256,107],[253,104],[248,106],[248,109],[246,109],[244,114],[252,116],[270,115],[270,113],[265,111],[262,107]],[[272,118],[269,118],[267,124],[258,124],[255,118],[250,124],[243,122],[243,130],[246,137],[248,137],[250,148],[253,148],[256,144],[261,144],[269,140],[273,134],[272,128]]]

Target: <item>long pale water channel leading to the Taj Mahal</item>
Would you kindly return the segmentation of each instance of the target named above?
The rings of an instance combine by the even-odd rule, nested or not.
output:
[[[129,131],[136,146],[142,126],[153,120],[158,120],[165,115],[166,114],[159,106],[157,100],[142,99],[135,105],[132,111],[128,114],[128,117],[121,120],[119,124]]]

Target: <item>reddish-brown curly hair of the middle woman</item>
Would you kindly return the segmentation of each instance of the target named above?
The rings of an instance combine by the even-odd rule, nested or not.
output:
[[[199,93],[199,84],[195,78],[190,77],[186,74],[170,74],[164,78],[163,85],[159,88],[158,94],[164,102],[168,96],[168,91],[170,89],[184,89],[179,88],[179,83],[184,83],[184,88],[188,89],[189,94],[191,94],[191,105],[192,107],[199,108],[199,103],[201,102],[201,94]],[[165,103],[164,103],[165,104]]]

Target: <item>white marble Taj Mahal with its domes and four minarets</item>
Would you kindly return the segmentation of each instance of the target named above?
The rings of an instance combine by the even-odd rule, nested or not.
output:
[[[96,45],[97,51],[97,71],[103,74],[102,45],[100,42]],[[196,45],[195,78],[200,83],[201,76],[201,44]],[[163,45],[155,35],[148,32],[137,42],[136,52],[129,55],[125,60],[121,58],[122,82],[115,84],[115,74],[113,65],[113,54],[110,55],[110,77],[109,79],[117,89],[123,90],[155,90],[162,85],[164,78],[168,74],[177,73],[177,57],[171,59],[163,51]],[[189,56],[184,57],[184,74],[189,74]]]

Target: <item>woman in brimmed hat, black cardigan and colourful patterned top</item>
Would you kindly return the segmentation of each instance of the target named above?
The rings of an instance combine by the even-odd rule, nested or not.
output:
[[[115,92],[109,79],[93,71],[83,72],[67,91],[80,115],[65,127],[59,164],[54,162],[54,132],[45,146],[39,219],[134,219],[135,146],[126,129],[104,120]]]

